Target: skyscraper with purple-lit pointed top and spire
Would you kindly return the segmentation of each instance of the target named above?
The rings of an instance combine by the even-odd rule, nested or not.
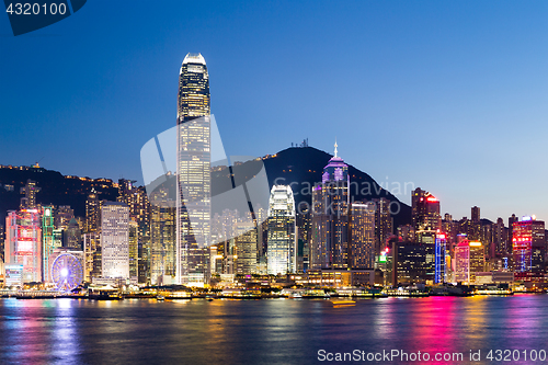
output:
[[[312,191],[310,269],[349,267],[349,166],[336,155]]]

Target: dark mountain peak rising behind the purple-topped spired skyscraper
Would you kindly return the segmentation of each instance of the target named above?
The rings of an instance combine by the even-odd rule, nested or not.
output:
[[[324,151],[313,147],[290,147],[277,152],[276,155],[263,159],[270,186],[275,183],[292,184],[295,194],[295,204],[306,202],[311,205],[311,187],[321,182],[323,168],[332,158]],[[386,197],[390,202],[397,202],[393,205],[393,226],[411,224],[411,207],[401,203],[390,192],[383,189],[367,173],[349,164],[351,180],[351,198],[353,201],[369,202],[374,198]]]

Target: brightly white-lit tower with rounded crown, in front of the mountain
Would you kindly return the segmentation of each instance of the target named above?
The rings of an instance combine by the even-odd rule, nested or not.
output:
[[[289,185],[274,185],[269,201],[267,273],[297,272],[295,198]]]

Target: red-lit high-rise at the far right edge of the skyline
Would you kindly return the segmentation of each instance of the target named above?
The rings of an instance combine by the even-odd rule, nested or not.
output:
[[[543,272],[546,259],[545,223],[533,217],[514,221],[512,228],[514,271]]]

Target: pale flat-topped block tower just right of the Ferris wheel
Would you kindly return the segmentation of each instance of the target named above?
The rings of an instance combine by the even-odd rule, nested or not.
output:
[[[129,278],[129,207],[105,202],[101,207],[102,277]]]

